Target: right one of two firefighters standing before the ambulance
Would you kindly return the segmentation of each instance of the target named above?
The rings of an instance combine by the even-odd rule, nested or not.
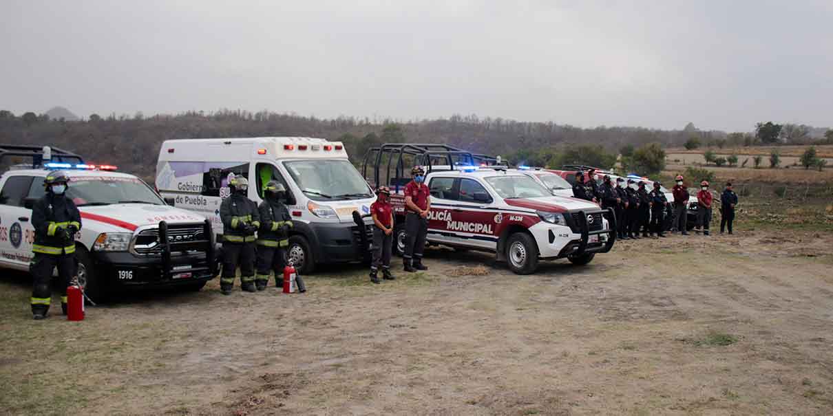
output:
[[[283,268],[287,265],[287,246],[292,217],[283,205],[287,189],[281,182],[269,181],[263,189],[265,198],[257,213],[261,225],[257,232],[257,275],[255,286],[264,290],[269,282],[269,273],[275,272],[275,287],[282,289]]]

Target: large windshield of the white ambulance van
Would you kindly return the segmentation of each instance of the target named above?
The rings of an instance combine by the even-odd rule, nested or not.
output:
[[[285,161],[283,166],[304,195],[312,200],[357,200],[373,196],[370,186],[349,161]]]

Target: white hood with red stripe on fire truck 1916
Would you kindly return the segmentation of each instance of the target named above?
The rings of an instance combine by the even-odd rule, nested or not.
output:
[[[183,224],[205,220],[205,217],[192,211],[151,204],[79,206],[78,210],[81,211],[82,230],[94,229],[99,232],[133,231],[144,225],[158,225],[160,221]]]

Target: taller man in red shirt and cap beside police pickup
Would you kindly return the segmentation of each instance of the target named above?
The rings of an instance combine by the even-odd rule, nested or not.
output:
[[[422,265],[422,250],[425,250],[425,236],[428,233],[428,212],[431,211],[431,194],[425,182],[425,170],[414,166],[411,170],[414,180],[405,186],[405,255],[402,262],[405,271],[428,270]]]

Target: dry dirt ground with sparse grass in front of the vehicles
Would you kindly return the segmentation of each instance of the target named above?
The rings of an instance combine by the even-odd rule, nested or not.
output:
[[[80,323],[32,321],[27,278],[4,275],[0,413],[831,414],[831,247],[673,236],[528,276],[430,250],[382,285],[358,265],[306,295],[214,280]]]

